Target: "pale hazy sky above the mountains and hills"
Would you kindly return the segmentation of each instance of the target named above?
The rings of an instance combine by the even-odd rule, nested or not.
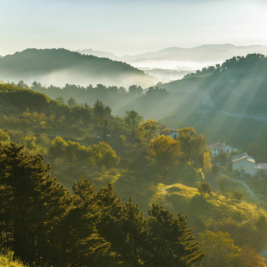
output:
[[[1,0],[0,55],[26,48],[121,56],[202,44],[267,45],[267,1]]]

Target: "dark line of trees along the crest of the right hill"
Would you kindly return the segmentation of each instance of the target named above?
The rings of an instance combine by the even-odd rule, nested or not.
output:
[[[267,68],[267,57],[262,54],[248,54],[246,56],[234,56],[231,59],[227,59],[225,62],[216,64],[216,66],[209,66],[208,68],[202,68],[196,72],[190,72],[183,77],[183,79],[212,74],[220,71],[227,71],[229,69],[244,68],[244,69],[265,69]]]

